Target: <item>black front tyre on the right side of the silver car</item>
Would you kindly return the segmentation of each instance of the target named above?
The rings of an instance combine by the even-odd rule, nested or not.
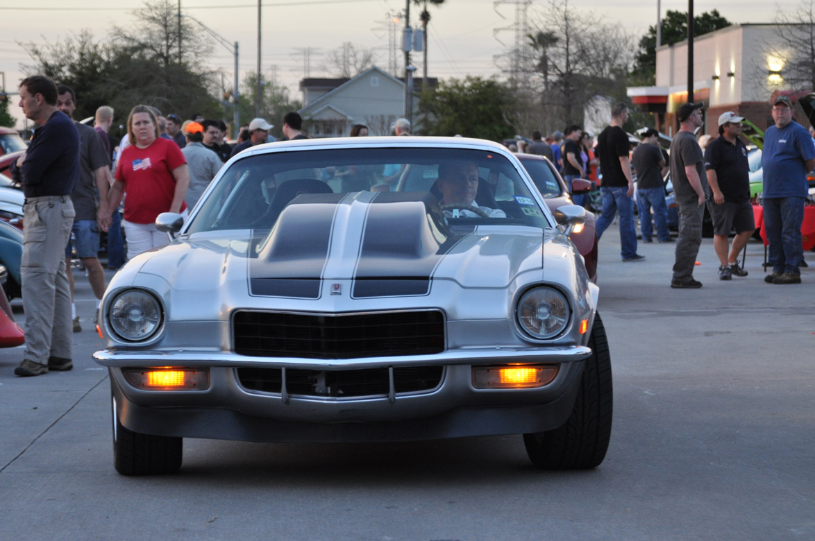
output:
[[[594,318],[586,359],[571,416],[561,427],[523,435],[526,454],[539,468],[591,469],[601,464],[611,437],[613,390],[611,355],[600,314]]]

